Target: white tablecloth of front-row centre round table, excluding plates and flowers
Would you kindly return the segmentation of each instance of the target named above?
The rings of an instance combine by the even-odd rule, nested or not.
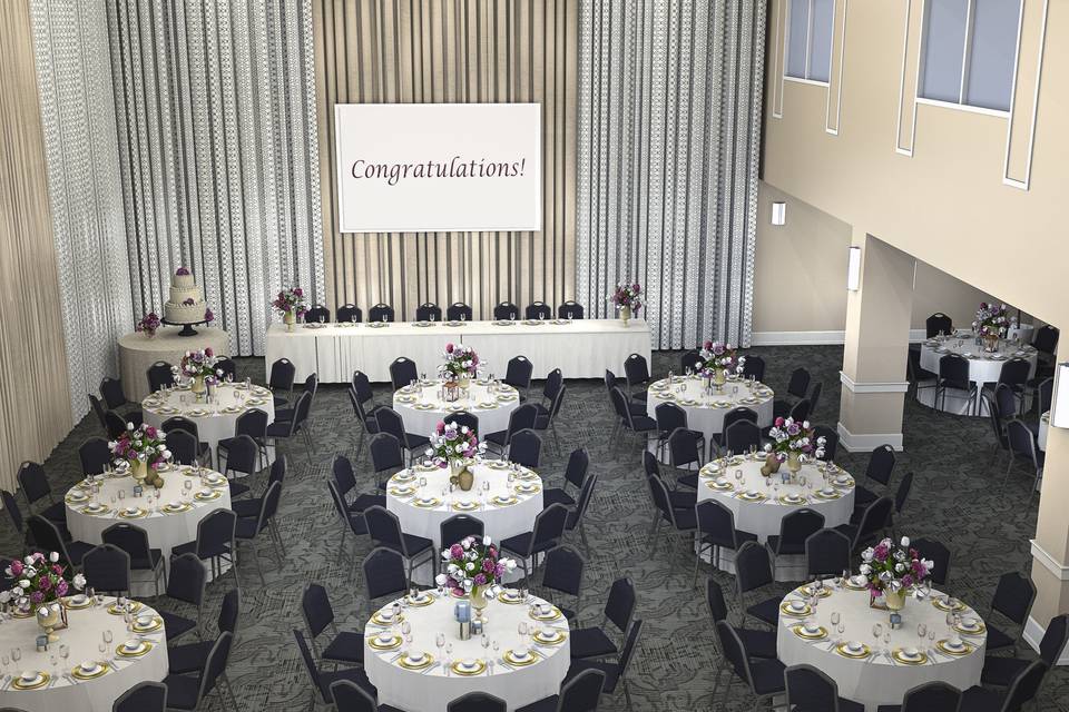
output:
[[[497,599],[491,600],[486,609],[486,631],[491,646],[483,650],[478,636],[460,640],[459,624],[453,619],[455,599],[448,594],[439,597],[437,591],[428,591],[422,595],[430,596],[432,603],[422,606],[408,605],[402,615],[412,626],[411,650],[430,654],[434,659],[423,670],[406,670],[401,666],[395,660],[401,654],[400,642],[382,651],[371,646],[371,642],[377,640],[380,634],[396,633],[393,629],[376,623],[382,621],[381,615],[389,614],[392,603],[375,613],[364,627],[364,670],[367,679],[379,690],[379,704],[390,704],[411,712],[444,712],[450,701],[469,692],[482,691],[501,698],[509,710],[516,710],[560,691],[571,655],[568,621],[559,610],[550,609],[549,615],[555,616],[553,620],[536,623],[530,617],[530,609],[522,602],[508,604]],[[546,602],[534,599],[533,603]],[[504,662],[503,656],[521,645],[520,634],[517,632],[520,621],[536,624],[539,630],[556,631],[552,634],[559,636],[560,642],[550,645],[536,641],[529,646],[536,662],[512,666]],[[487,665],[486,671],[477,675],[467,676],[453,670],[447,674],[445,661],[442,657],[448,654],[444,649],[440,652],[435,645],[438,633],[444,633],[447,643],[452,644],[452,662],[492,661],[492,672],[491,666]],[[493,649],[493,643],[498,644],[498,650]]]

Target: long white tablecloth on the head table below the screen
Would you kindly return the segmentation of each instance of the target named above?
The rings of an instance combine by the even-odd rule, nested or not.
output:
[[[390,363],[399,356],[433,374],[450,342],[473,347],[487,370],[499,377],[504,376],[509,359],[521,354],[534,365],[536,378],[543,378],[553,368],[560,368],[566,378],[601,378],[606,368],[622,373],[624,360],[632,353],[650,358],[649,327],[643,319],[631,319],[627,327],[618,319],[545,322],[537,326],[522,322],[510,326],[496,326],[493,322],[457,324],[438,322],[421,327],[394,323],[374,328],[367,324],[297,325],[293,332],[272,324],[265,363],[269,370],[272,363],[285,357],[296,366],[297,380],[316,372],[322,383],[349,383],[357,369],[373,382],[389,382]]]

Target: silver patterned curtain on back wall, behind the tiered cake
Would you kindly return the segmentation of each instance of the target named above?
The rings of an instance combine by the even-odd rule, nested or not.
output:
[[[310,0],[106,0],[135,313],[193,269],[234,355],[324,294]]]

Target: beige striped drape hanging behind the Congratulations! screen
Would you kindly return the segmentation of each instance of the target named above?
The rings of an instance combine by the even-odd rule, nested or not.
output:
[[[578,3],[313,0],[326,291],[331,307],[573,298]],[[542,105],[540,233],[337,231],[335,103]]]

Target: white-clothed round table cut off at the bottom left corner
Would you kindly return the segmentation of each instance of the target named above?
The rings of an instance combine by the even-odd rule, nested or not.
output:
[[[121,615],[108,613],[108,607],[115,602],[106,597],[101,606],[91,603],[85,609],[68,609],[68,627],[57,631],[59,641],[49,645],[48,652],[37,652],[37,636],[41,633],[33,617],[11,619],[0,625],[0,650],[4,655],[18,647],[22,651],[22,659],[14,663],[4,673],[4,682],[0,684],[0,706],[27,710],[27,712],[56,712],[56,710],[78,710],[88,712],[111,712],[111,705],[127,690],[139,682],[159,682],[167,676],[167,641],[164,635],[164,624],[156,612],[144,604],[139,604],[137,615],[150,615],[159,621],[159,627],[147,633],[129,633]],[[102,641],[104,631],[110,630],[112,641],[108,652],[100,653],[97,647]],[[138,656],[121,656],[117,654],[120,645],[128,640],[140,639],[149,649]],[[63,660],[59,655],[59,646],[67,645],[70,655]],[[53,675],[51,657],[58,663],[58,675]],[[105,661],[109,669],[102,675],[90,680],[72,681],[67,676],[71,670],[84,661]],[[33,690],[14,688],[8,675],[21,672],[42,672],[55,681],[49,681]]]

